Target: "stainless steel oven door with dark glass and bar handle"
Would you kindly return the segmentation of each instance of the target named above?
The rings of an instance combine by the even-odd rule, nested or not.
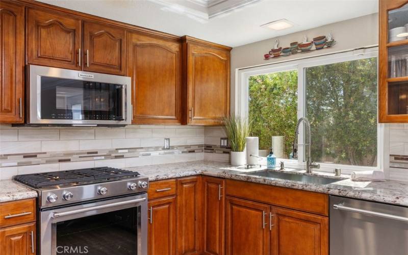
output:
[[[147,254],[147,194],[40,213],[40,255]]]

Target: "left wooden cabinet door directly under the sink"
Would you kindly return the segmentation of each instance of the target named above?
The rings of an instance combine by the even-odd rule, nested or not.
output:
[[[226,197],[225,210],[225,253],[269,254],[269,206]]]

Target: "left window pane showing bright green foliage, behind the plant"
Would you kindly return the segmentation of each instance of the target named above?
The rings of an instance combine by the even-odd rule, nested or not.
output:
[[[248,105],[251,136],[259,137],[263,156],[273,140],[276,157],[288,159],[297,121],[297,70],[251,76]]]

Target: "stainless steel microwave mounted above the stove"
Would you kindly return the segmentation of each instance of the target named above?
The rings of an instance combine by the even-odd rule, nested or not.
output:
[[[28,124],[131,124],[130,77],[37,65],[29,77]]]

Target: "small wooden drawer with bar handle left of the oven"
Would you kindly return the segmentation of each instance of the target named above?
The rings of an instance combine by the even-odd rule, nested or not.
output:
[[[35,221],[35,198],[0,203],[0,227]]]

